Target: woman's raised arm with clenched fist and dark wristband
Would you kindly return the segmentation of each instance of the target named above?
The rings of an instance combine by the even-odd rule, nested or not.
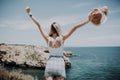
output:
[[[32,21],[37,25],[40,33],[42,34],[43,38],[44,38],[44,39],[46,40],[46,42],[47,42],[47,41],[48,41],[48,36],[47,36],[47,35],[44,33],[44,31],[42,30],[42,28],[41,28],[38,20],[35,19],[35,17],[33,17],[33,15],[30,13],[30,8],[29,8],[29,7],[26,8],[26,12],[27,12],[27,14],[30,16],[30,18],[32,19]]]

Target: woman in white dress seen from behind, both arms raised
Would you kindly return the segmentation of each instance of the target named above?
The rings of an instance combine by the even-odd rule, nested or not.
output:
[[[27,14],[33,20],[33,22],[37,25],[40,33],[48,44],[50,57],[48,59],[46,68],[45,68],[45,79],[53,80],[55,76],[56,80],[64,80],[66,78],[65,73],[65,62],[63,59],[63,44],[70,37],[70,35],[76,31],[78,28],[84,26],[92,20],[92,16],[89,15],[88,19],[76,26],[74,26],[67,34],[63,35],[61,33],[60,25],[56,22],[51,24],[51,29],[49,34],[45,34],[42,30],[39,22],[30,14],[30,8],[26,8]]]

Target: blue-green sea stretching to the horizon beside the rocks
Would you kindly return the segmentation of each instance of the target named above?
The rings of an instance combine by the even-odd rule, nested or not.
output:
[[[77,56],[69,57],[65,80],[120,80],[120,47],[65,47]],[[44,70],[24,69],[35,80],[44,80]]]

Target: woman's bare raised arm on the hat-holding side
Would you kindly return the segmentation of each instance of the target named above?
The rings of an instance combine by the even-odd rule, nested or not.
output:
[[[88,20],[74,26],[68,33],[63,35],[63,39],[66,40],[70,35],[72,35],[73,32],[75,32],[78,28],[80,28],[80,27],[84,26],[85,24],[87,24],[89,21],[90,21],[90,19],[88,19]]]

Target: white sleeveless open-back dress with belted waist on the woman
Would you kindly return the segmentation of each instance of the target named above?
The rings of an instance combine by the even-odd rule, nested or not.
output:
[[[54,45],[56,41],[60,41],[61,46],[58,48],[51,48],[49,46],[50,42],[52,42]],[[45,77],[59,76],[62,78],[66,78],[65,62],[63,59],[63,37],[59,36],[56,39],[49,37],[48,49],[50,52],[50,57],[45,68]]]

